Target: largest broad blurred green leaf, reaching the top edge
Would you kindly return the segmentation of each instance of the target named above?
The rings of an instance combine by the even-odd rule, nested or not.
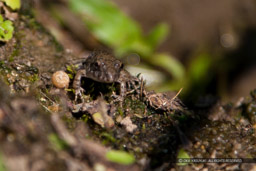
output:
[[[69,2],[73,11],[83,17],[96,37],[112,47],[120,47],[141,35],[138,24],[109,1],[70,0]]]

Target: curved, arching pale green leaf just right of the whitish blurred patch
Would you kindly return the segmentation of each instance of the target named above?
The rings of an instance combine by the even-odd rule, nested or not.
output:
[[[168,71],[177,80],[183,80],[185,77],[184,66],[174,57],[168,54],[155,54],[150,58],[152,64]]]

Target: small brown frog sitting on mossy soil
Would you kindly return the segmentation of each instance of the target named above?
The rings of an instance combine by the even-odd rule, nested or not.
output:
[[[112,54],[102,51],[90,54],[78,70],[73,82],[76,95],[75,101],[77,96],[81,97],[84,92],[84,89],[81,87],[82,77],[102,83],[120,83],[120,96],[118,100],[121,102],[126,96],[127,86],[130,89],[132,85],[137,90],[136,83],[139,82],[138,78],[132,76],[124,69],[123,63],[120,60],[116,59]]]

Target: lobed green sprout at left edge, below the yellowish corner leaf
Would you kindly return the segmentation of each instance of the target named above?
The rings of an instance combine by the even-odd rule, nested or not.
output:
[[[12,38],[14,27],[10,20],[3,19],[0,15],[0,41],[6,42]]]

